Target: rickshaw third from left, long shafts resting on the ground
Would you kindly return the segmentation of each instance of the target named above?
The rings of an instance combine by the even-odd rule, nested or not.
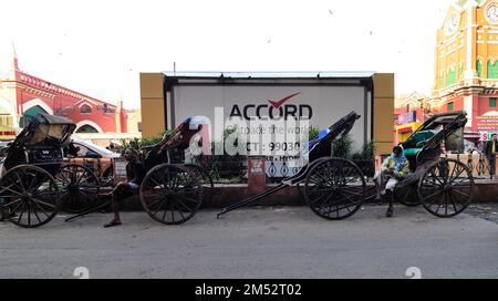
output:
[[[339,220],[356,212],[365,198],[366,180],[360,167],[347,158],[332,157],[332,142],[344,137],[360,118],[351,112],[329,128],[321,131],[318,138],[310,141],[304,150],[309,163],[294,176],[283,179],[278,186],[236,203],[218,218],[237,208],[258,201],[289,186],[302,185],[302,195],[311,210],[318,216]]]

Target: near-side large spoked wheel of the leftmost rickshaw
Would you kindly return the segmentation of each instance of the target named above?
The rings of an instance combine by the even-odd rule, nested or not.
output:
[[[1,210],[17,226],[37,228],[52,220],[61,206],[55,179],[43,168],[19,165],[0,179]]]

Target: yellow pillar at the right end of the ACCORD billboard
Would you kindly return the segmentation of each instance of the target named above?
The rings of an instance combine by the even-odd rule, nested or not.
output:
[[[376,73],[373,76],[373,139],[375,141],[375,155],[391,154],[394,143],[394,74]]]

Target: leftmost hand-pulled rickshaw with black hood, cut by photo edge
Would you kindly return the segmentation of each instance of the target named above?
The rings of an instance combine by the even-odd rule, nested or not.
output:
[[[86,167],[64,162],[75,124],[39,114],[9,146],[1,166],[0,211],[15,225],[34,228],[59,209],[79,211],[96,200],[100,183]]]

